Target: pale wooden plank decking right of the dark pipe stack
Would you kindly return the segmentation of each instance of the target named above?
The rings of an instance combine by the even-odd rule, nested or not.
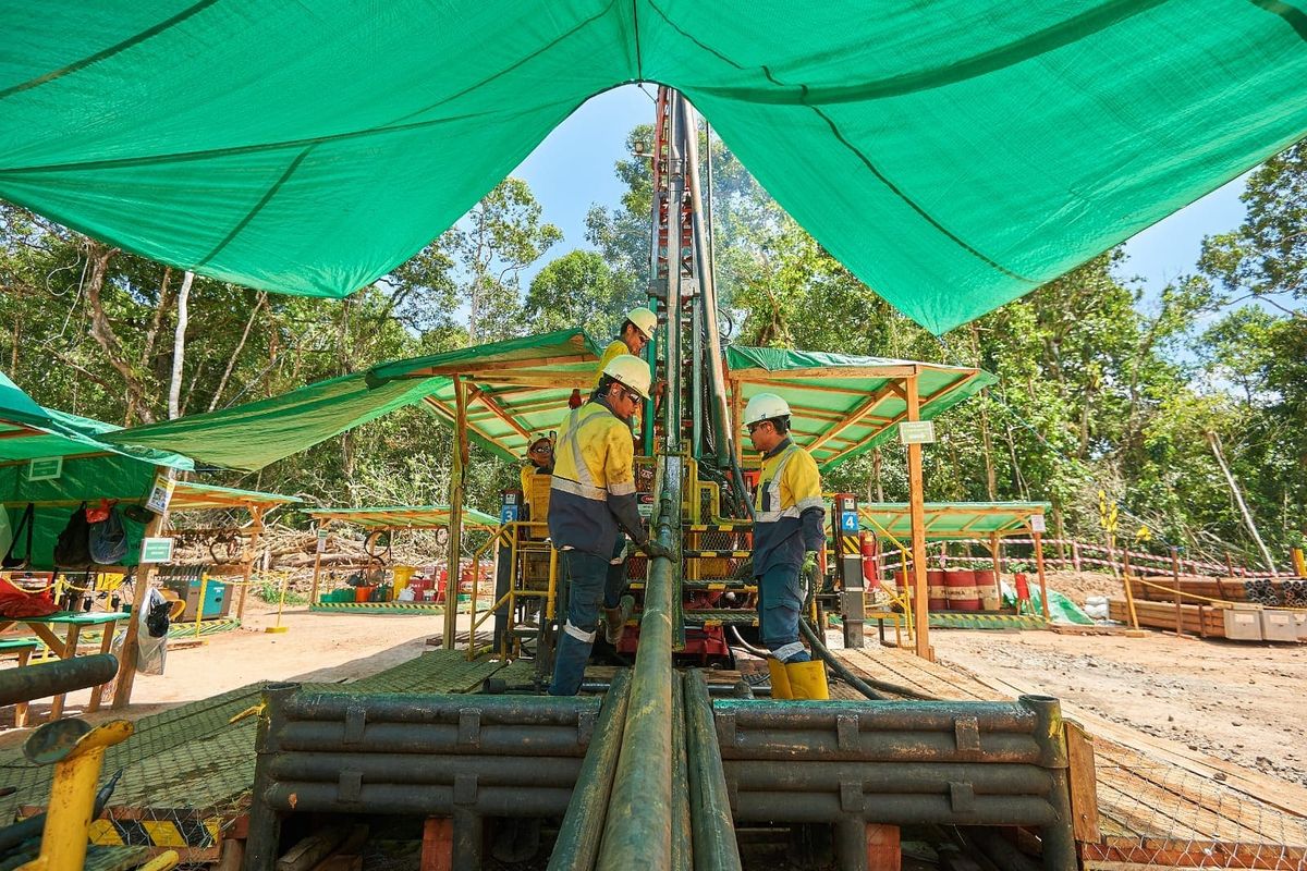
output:
[[[982,678],[902,650],[839,656],[865,676],[940,699],[1010,700],[1035,692],[1019,679]],[[847,687],[835,695],[850,697]],[[1080,842],[1087,868],[1307,871],[1307,790],[1067,703],[1063,712],[1084,725],[1097,760],[1099,837]]]

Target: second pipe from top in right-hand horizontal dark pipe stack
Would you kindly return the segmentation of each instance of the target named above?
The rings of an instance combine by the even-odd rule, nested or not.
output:
[[[868,763],[965,763],[976,759],[995,763],[1039,763],[1040,759],[1039,746],[1030,735],[982,733],[978,743],[979,751],[959,750],[957,738],[942,733],[863,733],[840,740],[834,730],[827,733],[816,729],[758,729],[737,731],[732,743],[723,740],[721,757]]]

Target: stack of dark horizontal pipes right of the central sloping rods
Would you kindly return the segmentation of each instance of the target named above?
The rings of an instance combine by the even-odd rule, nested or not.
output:
[[[1051,708],[1050,708],[1051,705]],[[1063,831],[1055,700],[714,703],[737,823],[1038,825]],[[1048,726],[1046,721],[1056,721]],[[1061,772],[1061,774],[1059,774]],[[957,785],[968,785],[959,795]]]

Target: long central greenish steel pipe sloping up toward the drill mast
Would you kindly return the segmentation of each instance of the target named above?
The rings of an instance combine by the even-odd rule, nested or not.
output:
[[[677,313],[672,312],[673,321]],[[634,857],[650,871],[665,871],[672,864],[670,615],[681,567],[681,460],[664,456],[661,462],[654,528],[659,543],[672,550],[673,558],[650,560],[630,712],[596,866],[601,871],[627,871]]]

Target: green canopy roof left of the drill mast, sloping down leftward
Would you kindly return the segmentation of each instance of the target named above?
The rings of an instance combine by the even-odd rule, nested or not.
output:
[[[257,402],[111,434],[124,445],[178,451],[255,471],[396,409],[421,404],[452,426],[455,376],[467,383],[468,435],[518,460],[557,428],[574,388],[588,392],[599,354],[579,329],[382,363]]]

